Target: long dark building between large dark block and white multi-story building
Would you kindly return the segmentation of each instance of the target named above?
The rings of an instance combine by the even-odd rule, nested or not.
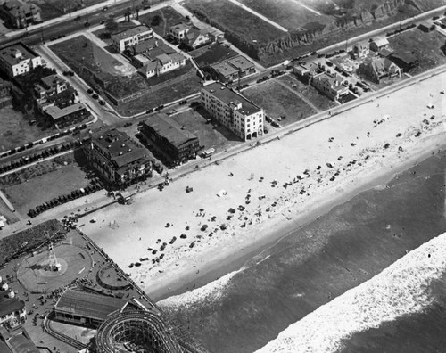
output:
[[[195,158],[200,149],[198,137],[179,126],[165,113],[146,119],[139,131],[142,140],[146,144],[154,144],[172,164]]]

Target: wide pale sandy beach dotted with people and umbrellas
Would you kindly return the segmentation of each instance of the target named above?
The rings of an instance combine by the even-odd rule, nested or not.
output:
[[[97,222],[82,229],[154,300],[209,282],[215,271],[225,273],[237,259],[442,147],[445,78],[426,79],[253,147],[162,192],[138,194],[130,206],[99,210],[91,215]],[[186,186],[194,191],[186,193]],[[210,273],[213,278],[206,277]]]

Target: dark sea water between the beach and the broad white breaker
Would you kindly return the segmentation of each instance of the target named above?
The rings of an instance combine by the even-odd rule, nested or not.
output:
[[[160,304],[211,352],[260,349],[446,231],[445,167],[442,152],[289,234],[224,283]]]

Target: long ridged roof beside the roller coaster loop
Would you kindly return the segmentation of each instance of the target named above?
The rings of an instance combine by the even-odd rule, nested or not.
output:
[[[113,311],[119,310],[126,300],[99,294],[68,289],[57,301],[54,310],[96,320],[105,320]]]

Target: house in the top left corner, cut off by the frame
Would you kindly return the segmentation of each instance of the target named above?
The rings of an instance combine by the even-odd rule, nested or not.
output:
[[[0,15],[5,22],[17,29],[24,29],[30,24],[40,23],[40,8],[36,4],[18,0],[6,1],[0,6]]]

